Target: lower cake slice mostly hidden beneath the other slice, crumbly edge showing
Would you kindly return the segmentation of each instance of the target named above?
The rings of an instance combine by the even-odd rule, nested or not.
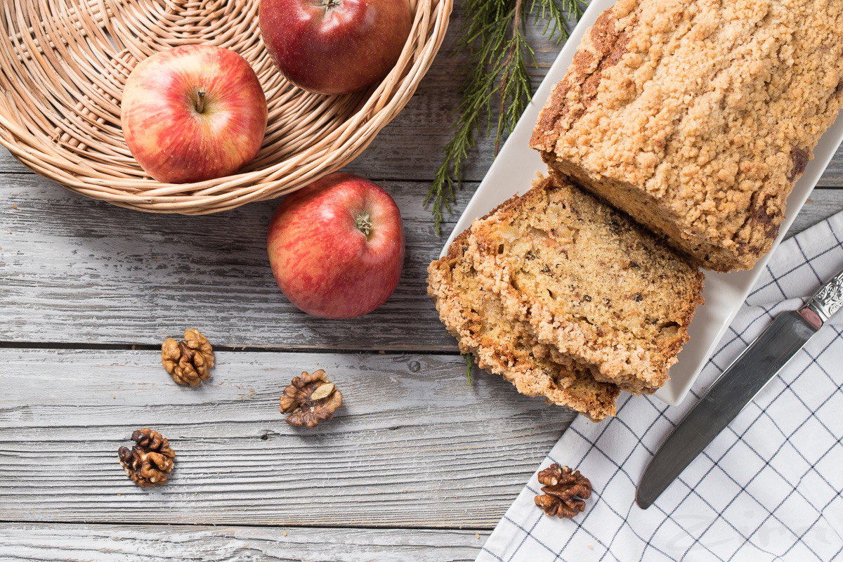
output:
[[[539,344],[529,326],[511,322],[502,303],[480,286],[463,257],[468,237],[468,231],[462,233],[448,255],[427,270],[427,292],[443,324],[459,340],[459,350],[472,353],[482,369],[502,375],[520,393],[544,396],[549,403],[569,406],[593,421],[615,415],[620,393],[615,385],[552,361],[550,350]]]

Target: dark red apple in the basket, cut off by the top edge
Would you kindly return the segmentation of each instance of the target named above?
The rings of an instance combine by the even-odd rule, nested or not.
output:
[[[260,0],[260,35],[284,76],[318,94],[384,78],[411,28],[408,0]]]

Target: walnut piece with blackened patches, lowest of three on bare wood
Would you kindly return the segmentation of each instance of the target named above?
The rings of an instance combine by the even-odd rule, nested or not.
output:
[[[132,449],[117,449],[126,476],[142,488],[166,483],[175,465],[175,452],[169,442],[158,431],[149,428],[132,433],[132,441],[135,442]]]

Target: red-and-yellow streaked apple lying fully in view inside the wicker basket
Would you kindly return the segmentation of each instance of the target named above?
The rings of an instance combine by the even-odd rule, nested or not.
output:
[[[258,153],[266,97],[242,56],[184,45],[135,67],[123,90],[121,124],[132,156],[158,181],[219,178]]]

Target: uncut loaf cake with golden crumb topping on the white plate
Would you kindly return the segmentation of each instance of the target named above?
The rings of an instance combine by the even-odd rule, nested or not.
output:
[[[530,144],[701,265],[748,269],[841,104],[841,0],[619,0]]]

